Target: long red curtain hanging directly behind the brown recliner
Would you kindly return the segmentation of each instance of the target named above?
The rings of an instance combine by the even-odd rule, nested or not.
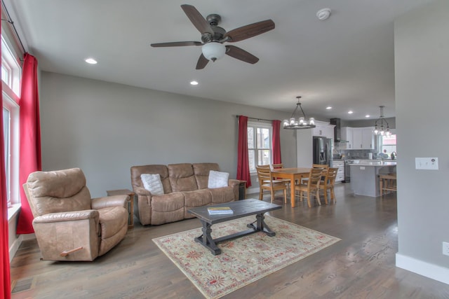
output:
[[[37,90],[37,60],[25,54],[22,69],[22,90],[20,92],[20,187],[28,175],[42,170],[41,165],[41,125],[39,121],[39,95]],[[29,208],[23,188],[20,188],[20,214],[18,234],[34,232],[33,214]]]

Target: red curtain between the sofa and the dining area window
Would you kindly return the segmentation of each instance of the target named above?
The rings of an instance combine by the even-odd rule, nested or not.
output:
[[[248,116],[239,116],[239,144],[237,148],[237,179],[251,186],[250,163],[248,158]]]

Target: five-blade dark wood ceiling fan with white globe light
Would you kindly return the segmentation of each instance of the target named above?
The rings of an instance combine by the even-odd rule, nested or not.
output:
[[[178,47],[178,46],[202,46],[201,55],[196,63],[196,69],[204,69],[209,60],[215,62],[225,54],[234,57],[243,62],[255,64],[259,58],[253,54],[246,52],[236,46],[224,45],[223,43],[235,43],[236,41],[243,41],[250,37],[268,32],[274,29],[274,22],[272,20],[264,20],[250,25],[239,27],[226,32],[222,27],[218,27],[221,20],[220,15],[212,14],[207,18],[192,5],[183,4],[182,10],[189,18],[190,22],[201,32],[201,41],[175,41],[171,43],[152,43],[152,47]]]

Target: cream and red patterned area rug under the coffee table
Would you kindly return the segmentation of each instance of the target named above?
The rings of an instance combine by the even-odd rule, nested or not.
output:
[[[212,226],[212,237],[247,230],[255,216]],[[340,241],[336,237],[265,216],[276,235],[257,232],[217,244],[217,256],[194,242],[201,228],[158,237],[153,242],[192,281],[206,298],[216,299]]]

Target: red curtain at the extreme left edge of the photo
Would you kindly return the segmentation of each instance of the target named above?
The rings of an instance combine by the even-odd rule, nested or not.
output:
[[[1,11],[1,8],[0,8]],[[1,29],[1,22],[0,22]],[[0,47],[1,56],[1,47]],[[3,298],[11,298],[11,274],[9,272],[9,231],[8,231],[8,199],[6,197],[6,170],[5,170],[5,142],[3,134],[3,95],[0,85],[0,99],[2,112],[0,114],[0,211],[1,211],[1,237],[0,237],[0,259],[1,259],[1,277],[0,288]]]

